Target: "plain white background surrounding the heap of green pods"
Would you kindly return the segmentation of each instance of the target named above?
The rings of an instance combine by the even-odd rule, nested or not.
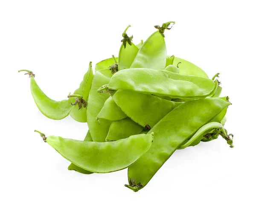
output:
[[[252,0],[0,1],[0,210],[256,210],[255,6]],[[83,175],[34,129],[83,140],[87,123],[55,121],[35,106],[29,78],[52,99],[74,91],[91,60],[118,55],[122,32],[134,43],[175,20],[168,54],[220,72],[222,96],[233,105],[219,138],[176,151],[148,185],[124,187],[127,169]]]

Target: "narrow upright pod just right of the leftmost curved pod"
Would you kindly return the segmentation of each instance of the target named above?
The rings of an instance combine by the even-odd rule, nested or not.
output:
[[[80,86],[76,91],[74,91],[73,95],[69,96],[76,96],[81,95],[82,99],[84,99],[86,102],[88,101],[90,88],[93,81],[93,69],[92,69],[92,63],[89,63],[89,68],[86,74],[84,74],[84,79],[80,83]],[[74,105],[74,108],[70,111],[70,116],[80,122],[80,123],[86,123],[87,122],[87,103],[84,104],[84,106],[79,105],[79,98],[70,98],[71,103]],[[76,104],[76,105],[75,105]]]

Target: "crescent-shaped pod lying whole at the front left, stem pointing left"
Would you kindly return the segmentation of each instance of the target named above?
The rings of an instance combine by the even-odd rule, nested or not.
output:
[[[154,133],[103,143],[40,135],[59,154],[78,167],[95,173],[108,173],[135,163],[151,147]]]

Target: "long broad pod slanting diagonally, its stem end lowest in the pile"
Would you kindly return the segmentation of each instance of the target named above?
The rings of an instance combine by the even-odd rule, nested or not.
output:
[[[148,132],[154,132],[154,143],[128,168],[129,185],[125,186],[133,191],[145,187],[180,145],[228,105],[219,98],[207,97],[187,101],[169,112]]]

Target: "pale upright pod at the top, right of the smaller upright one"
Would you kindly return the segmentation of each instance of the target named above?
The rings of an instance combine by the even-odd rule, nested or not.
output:
[[[166,66],[166,43],[159,31],[151,34],[138,51],[131,68],[164,69]]]

